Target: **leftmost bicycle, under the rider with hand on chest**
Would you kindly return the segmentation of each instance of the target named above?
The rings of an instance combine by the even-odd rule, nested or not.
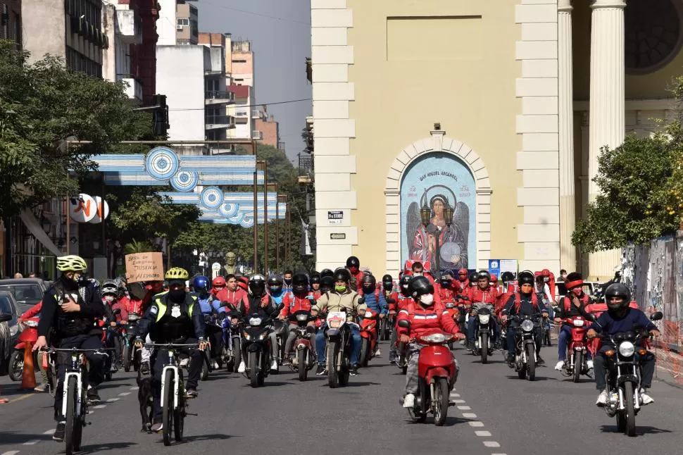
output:
[[[113,349],[78,349],[73,347],[64,349],[49,348],[42,349],[42,351],[46,354],[56,352],[71,353],[71,362],[70,364],[67,364],[66,373],[64,375],[62,415],[66,419],[64,435],[66,455],[72,455],[74,452],[80,451],[83,427],[88,425],[85,421],[85,416],[88,414],[88,387],[87,384],[84,384],[83,382],[83,378],[86,378],[87,381],[87,359],[84,354],[86,352],[94,352],[96,354],[108,356],[109,354],[106,354],[106,351],[113,351]]]

